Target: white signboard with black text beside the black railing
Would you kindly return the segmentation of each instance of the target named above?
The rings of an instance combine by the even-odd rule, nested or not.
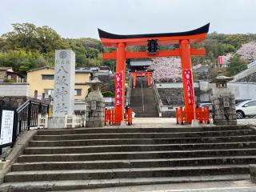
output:
[[[13,142],[14,110],[2,110],[0,146]]]

